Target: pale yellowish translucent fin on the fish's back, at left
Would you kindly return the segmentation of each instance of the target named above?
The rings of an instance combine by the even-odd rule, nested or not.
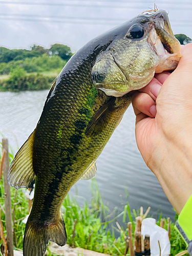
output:
[[[35,179],[33,170],[34,132],[17,152],[9,168],[8,183],[17,189],[28,188]]]

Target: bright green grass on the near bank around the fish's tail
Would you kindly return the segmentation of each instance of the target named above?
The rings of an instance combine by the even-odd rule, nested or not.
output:
[[[13,159],[13,153],[10,150],[10,162]],[[0,152],[0,158],[2,152]],[[28,199],[24,195],[25,189],[18,189],[15,207],[15,220],[25,217],[28,214]],[[116,226],[116,221],[126,223],[131,221],[133,226],[133,236],[135,230],[135,218],[139,215],[139,210],[131,210],[129,202],[127,201],[124,210],[118,214],[117,207],[112,211],[109,206],[104,204],[100,195],[99,188],[95,179],[91,183],[92,197],[90,201],[84,200],[83,205],[79,205],[76,197],[68,195],[63,201],[61,212],[63,219],[66,223],[66,229],[68,234],[68,244],[72,246],[81,247],[84,249],[94,250],[101,253],[110,254],[113,256],[124,255],[125,240],[124,236],[128,236],[127,228],[121,227],[121,232]],[[127,194],[127,193],[126,193]],[[15,189],[11,188],[11,200],[12,208],[14,203]],[[0,202],[4,204],[4,186],[3,179],[0,182]],[[161,216],[157,221],[159,225]],[[165,220],[165,229],[167,229],[167,219]],[[5,215],[2,211],[2,222],[5,228]],[[74,230],[74,225],[76,227]],[[177,253],[186,249],[186,245],[177,231],[174,229],[175,223],[171,223],[171,256],[175,256]],[[115,237],[115,230],[119,232],[119,236]],[[22,221],[16,222],[15,233],[17,238],[17,248],[23,247],[23,236],[25,232],[25,224]],[[73,233],[75,236],[73,236]],[[5,231],[6,235],[6,231]],[[2,241],[0,241],[1,245]],[[14,241],[15,245],[15,241]],[[50,252],[49,252],[50,253]],[[51,254],[49,254],[51,255]],[[126,255],[130,255],[129,251]]]

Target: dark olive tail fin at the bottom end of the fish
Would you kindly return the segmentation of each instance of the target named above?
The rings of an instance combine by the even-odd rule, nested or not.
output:
[[[66,244],[66,227],[62,217],[60,216],[57,224],[45,227],[39,227],[38,224],[31,222],[29,217],[24,236],[24,256],[43,256],[49,240],[60,246]]]

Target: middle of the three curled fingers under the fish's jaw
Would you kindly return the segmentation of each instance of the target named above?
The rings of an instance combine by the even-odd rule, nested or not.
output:
[[[147,84],[147,86],[138,91],[142,93],[147,93],[152,97],[153,100],[156,100],[161,86],[162,84],[156,78],[153,78],[151,82]]]

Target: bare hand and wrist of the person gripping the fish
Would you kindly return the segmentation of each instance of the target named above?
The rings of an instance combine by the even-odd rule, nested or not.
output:
[[[132,97],[139,151],[178,214],[192,194],[192,44],[181,53]]]

